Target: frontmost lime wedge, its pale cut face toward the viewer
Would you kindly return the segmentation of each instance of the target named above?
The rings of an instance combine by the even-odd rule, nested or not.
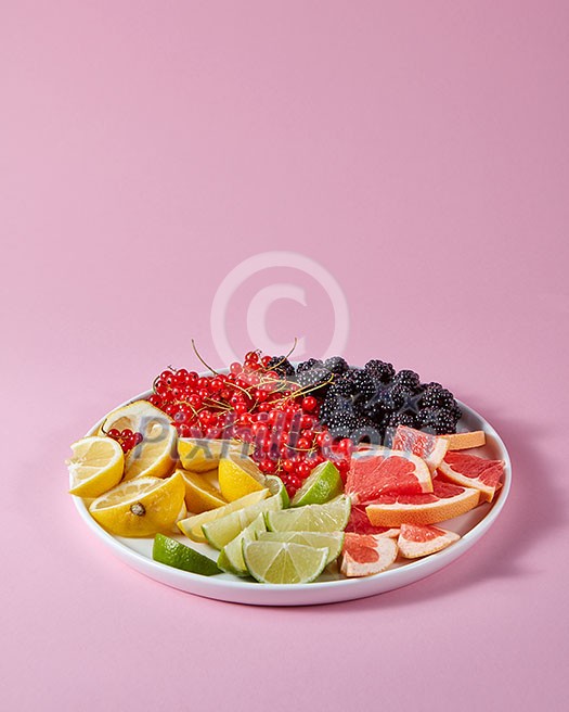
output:
[[[307,584],[324,570],[328,549],[289,542],[244,542],[243,558],[251,576],[263,584]]]

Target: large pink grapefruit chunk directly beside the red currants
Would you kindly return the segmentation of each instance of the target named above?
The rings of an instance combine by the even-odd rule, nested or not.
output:
[[[414,495],[432,492],[429,468],[416,455],[385,449],[352,456],[346,480],[352,504],[375,501],[384,493]]]

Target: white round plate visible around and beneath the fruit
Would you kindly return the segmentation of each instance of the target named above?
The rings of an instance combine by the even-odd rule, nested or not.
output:
[[[132,398],[132,400],[145,398],[148,395],[150,392],[143,393]],[[512,484],[512,463],[506,446],[492,425],[481,416],[462,403],[458,405],[463,410],[460,430],[483,430],[486,432],[486,445],[474,452],[491,459],[505,461],[503,487],[491,505],[479,505],[466,514],[448,520],[442,524],[445,529],[462,535],[458,542],[424,559],[398,561],[393,568],[373,576],[344,578],[338,574],[328,573],[326,578],[321,577],[311,584],[296,585],[259,584],[225,573],[216,576],[202,576],[154,561],[152,559],[153,538],[113,536],[99,526],[89,514],[87,506],[80,497],[74,497],[75,505],[93,534],[125,563],[155,581],[190,594],[254,606],[311,606],[375,596],[425,578],[457,559],[488,532],[504,507]],[[96,423],[88,435],[94,434],[103,420]],[[183,541],[212,559],[216,559],[219,554],[208,545],[190,542],[182,535],[176,536],[176,538]]]

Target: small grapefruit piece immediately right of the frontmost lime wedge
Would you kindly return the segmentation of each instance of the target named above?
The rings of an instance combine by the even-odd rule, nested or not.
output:
[[[397,558],[397,544],[387,536],[345,535],[340,571],[345,576],[371,576],[388,569]]]

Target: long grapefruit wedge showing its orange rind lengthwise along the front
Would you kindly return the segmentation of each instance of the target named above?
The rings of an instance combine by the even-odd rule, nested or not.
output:
[[[480,491],[450,482],[432,481],[432,492],[419,495],[383,494],[365,508],[374,526],[437,524],[474,509]]]

